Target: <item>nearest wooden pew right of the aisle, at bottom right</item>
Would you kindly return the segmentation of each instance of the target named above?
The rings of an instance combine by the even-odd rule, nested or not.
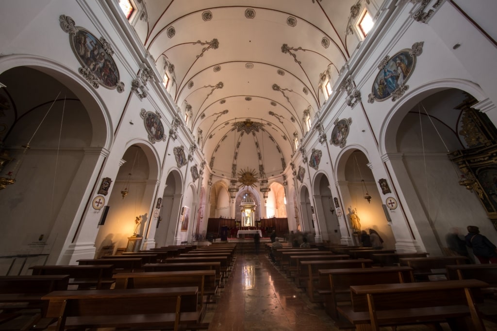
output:
[[[337,310],[358,331],[439,322],[457,330],[483,331],[476,302],[485,286],[476,279],[351,286],[352,305]],[[466,317],[471,317],[468,328],[464,328]]]

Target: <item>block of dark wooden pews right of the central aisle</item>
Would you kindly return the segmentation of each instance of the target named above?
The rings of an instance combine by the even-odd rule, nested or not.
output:
[[[468,265],[462,257],[400,258],[405,266],[371,267],[370,259],[332,260],[333,255],[312,249],[291,251],[281,249],[280,261],[289,262],[280,267],[291,268],[296,261],[300,265],[297,270],[302,270],[297,271],[296,283],[301,285],[304,280],[311,300],[322,299],[327,312],[343,329],[379,330],[379,326],[448,321],[461,330],[484,330],[476,305],[483,302],[482,288],[497,286],[496,266]],[[317,257],[321,260],[307,260]],[[344,259],[343,255],[335,258]],[[447,265],[450,263],[454,265]],[[307,279],[302,279],[299,272],[305,273],[306,267]],[[443,267],[445,271],[435,272],[456,280],[417,282],[420,279],[414,277],[415,267],[418,275]],[[319,298],[314,296],[317,281]],[[468,316],[471,322],[465,329],[461,325]]]

